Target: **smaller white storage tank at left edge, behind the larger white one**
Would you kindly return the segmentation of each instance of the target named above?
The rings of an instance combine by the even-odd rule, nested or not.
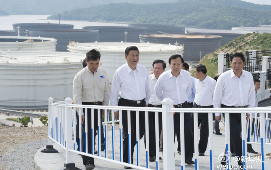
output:
[[[55,51],[57,40],[43,37],[0,36],[0,50]]]

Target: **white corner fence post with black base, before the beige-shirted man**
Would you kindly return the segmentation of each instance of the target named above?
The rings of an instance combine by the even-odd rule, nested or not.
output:
[[[75,167],[73,163],[73,153],[69,150],[73,150],[73,111],[69,104],[72,104],[73,100],[70,97],[65,99],[65,141],[66,141],[66,163],[64,163],[64,169],[73,170],[79,169]],[[76,121],[76,120],[75,120]],[[76,137],[76,135],[74,135]]]

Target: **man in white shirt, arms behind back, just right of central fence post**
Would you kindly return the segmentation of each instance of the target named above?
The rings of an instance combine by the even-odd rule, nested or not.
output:
[[[183,58],[179,54],[172,55],[169,60],[170,70],[162,73],[154,87],[154,91],[159,100],[170,98],[173,100],[175,108],[190,107],[187,103],[188,93],[191,89],[191,75],[188,71],[182,70]],[[175,113],[174,120],[174,140],[176,129],[180,128],[180,113]],[[191,131],[191,113],[184,113],[185,138],[185,163],[195,164],[193,158],[193,138]]]

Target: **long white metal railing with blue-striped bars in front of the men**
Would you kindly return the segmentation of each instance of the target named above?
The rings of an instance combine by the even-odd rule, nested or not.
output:
[[[64,104],[63,104],[64,103]],[[258,108],[173,108],[173,101],[170,99],[164,99],[162,101],[162,108],[148,108],[148,107],[115,107],[115,106],[97,106],[97,105],[76,105],[72,104],[72,99],[66,98],[64,102],[58,102],[53,103],[53,99],[49,98],[49,111],[48,111],[48,145],[52,145],[52,142],[57,143],[61,147],[63,147],[66,151],[66,162],[65,164],[73,164],[73,157],[72,153],[78,153],[81,155],[89,156],[96,159],[105,160],[108,162],[113,162],[116,164],[129,166],[136,169],[150,169],[149,165],[149,134],[148,134],[148,112],[155,112],[155,141],[156,141],[156,168],[160,169],[160,161],[159,161],[159,136],[158,136],[158,112],[162,112],[162,119],[163,119],[163,168],[164,169],[175,169],[175,156],[174,156],[174,134],[173,134],[173,113],[180,113],[180,138],[184,139],[184,113],[194,113],[194,139],[195,139],[195,153],[198,153],[198,113],[206,113],[208,114],[208,120],[209,120],[209,150],[210,150],[210,164],[209,168],[211,170],[214,169],[214,161],[213,161],[213,112],[217,113],[225,113],[225,141],[226,141],[226,157],[230,157],[229,151],[230,151],[230,131],[229,131],[229,113],[240,113],[241,119],[242,119],[242,154],[247,155],[247,138],[248,138],[248,132],[247,132],[247,125],[245,120],[245,113],[259,113],[260,117],[257,118],[260,126],[260,142],[250,142],[253,144],[260,144],[261,145],[261,155],[262,155],[262,162],[261,167],[262,169],[267,169],[265,166],[264,158],[266,156],[266,144],[270,144],[270,132],[269,132],[269,140],[267,140],[268,136],[268,126],[271,122],[269,118],[267,118],[268,112],[270,112],[270,107],[258,107]],[[75,108],[83,108],[85,109],[85,113],[87,113],[87,109],[92,110],[92,117],[94,117],[94,109],[98,109],[98,155],[94,155],[94,142],[92,142],[91,146],[87,145],[87,138],[86,140],[86,146],[80,145],[80,150],[76,150],[76,125],[72,124],[73,121],[76,120],[75,115]],[[114,110],[119,110],[119,134],[115,134],[115,119],[114,114],[111,114],[112,118],[112,142],[109,145],[108,141],[108,129],[107,129],[107,114],[105,114],[105,156],[101,156],[101,122],[100,122],[100,109],[104,109],[105,113],[107,113],[107,110],[111,110],[111,113],[114,113]],[[81,109],[80,109],[81,110]],[[123,125],[122,125],[122,111],[127,110],[127,118],[128,118],[128,142],[129,142],[129,152],[128,152],[128,158],[129,163],[123,162],[123,140],[122,140],[122,131],[123,131]],[[131,125],[130,125],[130,113],[131,111],[136,112],[136,142],[137,147],[135,153],[137,153],[137,160],[135,161],[135,165],[131,164]],[[145,112],[145,132],[146,132],[146,151],[142,151],[143,153],[146,153],[146,160],[144,161],[145,164],[141,165],[142,159],[140,158],[140,138],[139,138],[139,111]],[[266,114],[266,118],[265,118]],[[81,112],[79,113],[81,115]],[[92,121],[92,127],[91,129],[85,128],[85,135],[89,130],[92,131],[92,139],[94,139],[94,119]],[[85,127],[87,127],[87,114],[85,114]],[[80,144],[82,144],[82,133],[81,133],[81,123],[79,123],[79,139]],[[270,126],[269,126],[270,127]],[[270,131],[270,130],[269,130]],[[256,131],[256,134],[258,132]],[[72,139],[72,134],[74,134],[74,139]],[[265,134],[265,135],[262,135]],[[116,135],[119,135],[119,141],[115,140]],[[255,136],[255,131],[254,131]],[[257,136],[257,135],[256,135]],[[92,140],[93,141],[93,140]],[[120,145],[120,149],[116,150],[116,144]],[[92,147],[92,153],[85,153],[82,152],[82,147],[85,147],[85,150],[88,150],[87,147]],[[110,154],[109,155],[109,151]],[[185,146],[184,146],[184,140],[181,140],[181,168],[185,170]],[[244,158],[245,158],[244,157]],[[227,159],[226,161],[227,167],[231,164],[230,159]],[[246,159],[243,159],[243,165],[247,164]],[[195,169],[199,169],[199,160],[198,160],[198,154],[195,154]],[[244,168],[245,169],[245,168]]]

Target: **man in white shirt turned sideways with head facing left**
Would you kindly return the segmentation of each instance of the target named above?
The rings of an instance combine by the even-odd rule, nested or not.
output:
[[[195,108],[213,107],[213,93],[216,81],[209,77],[204,65],[199,64],[195,67]],[[194,133],[194,114],[191,115],[192,132]],[[208,144],[208,113],[198,113],[198,126],[201,124],[200,140],[198,142],[198,155],[204,156]]]

